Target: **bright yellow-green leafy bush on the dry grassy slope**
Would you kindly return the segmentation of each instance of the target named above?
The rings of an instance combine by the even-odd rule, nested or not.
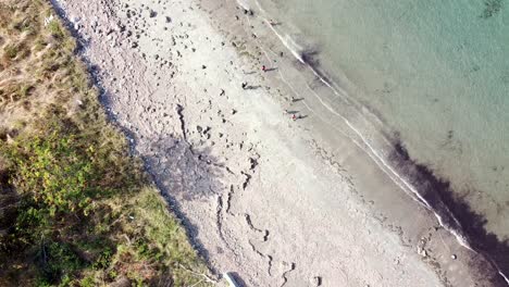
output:
[[[84,147],[78,136],[63,133],[60,126],[50,130],[20,138],[4,150],[16,171],[11,184],[23,197],[18,228],[29,227],[34,240],[50,234],[70,215],[75,220],[86,216],[99,191],[94,147]]]

